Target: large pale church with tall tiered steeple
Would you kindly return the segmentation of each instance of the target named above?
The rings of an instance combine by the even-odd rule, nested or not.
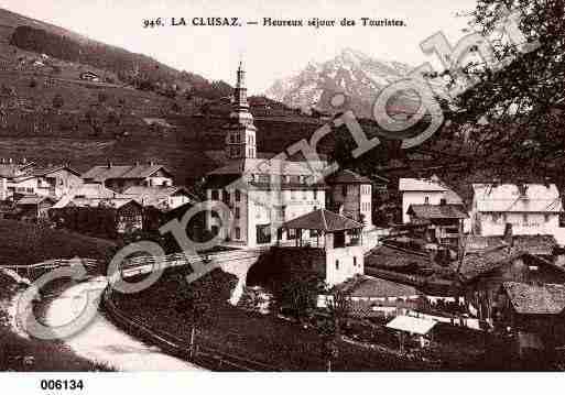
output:
[[[332,179],[338,182],[332,183],[322,176],[327,166],[325,161],[258,157],[258,129],[247,100],[246,72],[241,63],[229,121],[222,128],[227,161],[207,174],[206,195],[208,201],[221,201],[229,208],[231,226],[222,227],[220,216],[207,211],[206,228],[213,234],[219,232],[227,244],[254,248],[292,242],[296,232],[282,224],[326,207],[366,226],[372,224],[368,178],[351,177],[352,172],[340,177],[338,173],[332,175]],[[352,195],[347,196],[348,193]],[[315,239],[314,234],[309,237]]]

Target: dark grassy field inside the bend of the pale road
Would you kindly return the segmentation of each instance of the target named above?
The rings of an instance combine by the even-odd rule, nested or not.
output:
[[[221,273],[221,272],[220,272]],[[224,274],[224,281],[226,274]],[[214,282],[222,281],[217,275]],[[196,283],[194,283],[196,284]],[[202,284],[200,284],[202,285]],[[196,285],[198,286],[198,284]],[[180,285],[164,276],[149,289],[133,295],[115,294],[117,306],[148,326],[175,334],[188,342],[192,318],[177,307]],[[226,295],[200,295],[209,303],[197,344],[224,353],[260,362],[278,370],[324,371],[323,341],[313,329],[236,308],[225,301]],[[339,342],[336,371],[410,371],[430,369],[422,362],[400,356],[395,352],[373,350]]]

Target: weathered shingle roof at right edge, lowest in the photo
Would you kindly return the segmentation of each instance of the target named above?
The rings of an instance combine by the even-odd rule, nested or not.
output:
[[[508,282],[502,286],[518,314],[556,315],[565,309],[565,285]]]

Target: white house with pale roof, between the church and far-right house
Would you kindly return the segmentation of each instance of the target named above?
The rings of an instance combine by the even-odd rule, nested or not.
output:
[[[461,198],[439,178],[400,178],[402,197],[402,223],[410,223],[409,208],[412,205],[463,205]]]

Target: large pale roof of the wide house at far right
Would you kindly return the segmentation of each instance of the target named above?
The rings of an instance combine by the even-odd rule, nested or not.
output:
[[[472,184],[479,212],[561,212],[555,184]]]

